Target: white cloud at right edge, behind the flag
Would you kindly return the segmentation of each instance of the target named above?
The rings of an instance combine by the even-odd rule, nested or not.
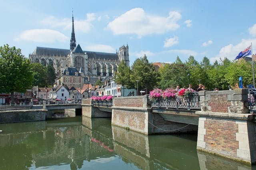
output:
[[[220,61],[220,58],[224,59],[224,57],[234,60],[238,53],[246,49],[252,44],[256,44],[256,39],[242,39],[240,43],[237,45],[229,44],[220,49],[220,52],[215,57],[212,57],[210,61],[213,63],[214,61]],[[253,52],[253,51],[252,51]]]

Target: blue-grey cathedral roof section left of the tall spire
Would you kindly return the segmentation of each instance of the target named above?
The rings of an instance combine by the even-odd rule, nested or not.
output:
[[[66,49],[54,49],[54,48],[47,48],[47,47],[36,47],[33,55],[44,55],[44,56],[67,56],[70,54],[70,50]]]

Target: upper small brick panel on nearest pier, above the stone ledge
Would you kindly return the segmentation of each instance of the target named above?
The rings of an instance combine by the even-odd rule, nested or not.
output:
[[[228,101],[227,94],[212,94],[208,101],[208,106],[212,107],[213,112],[228,113],[228,107],[231,101]]]

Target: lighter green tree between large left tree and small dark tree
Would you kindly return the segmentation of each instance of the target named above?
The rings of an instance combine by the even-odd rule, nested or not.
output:
[[[45,87],[46,84],[46,67],[41,63],[31,63],[31,70],[33,72],[34,81],[33,86]]]

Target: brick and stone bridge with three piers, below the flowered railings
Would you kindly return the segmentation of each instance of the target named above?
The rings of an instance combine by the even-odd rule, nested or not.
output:
[[[256,148],[252,145],[256,139],[250,135],[256,134],[256,125],[248,110],[246,89],[201,91],[199,96],[201,108],[195,110],[153,108],[147,96],[114,98],[112,107],[94,106],[91,100],[84,100],[82,115],[112,117],[112,125],[146,135],[197,131],[198,149],[256,162]]]

